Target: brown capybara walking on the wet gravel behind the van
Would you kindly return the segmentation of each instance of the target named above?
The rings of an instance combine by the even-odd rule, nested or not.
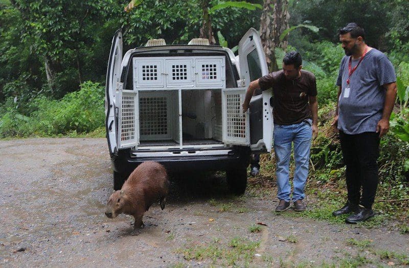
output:
[[[132,235],[140,233],[145,227],[142,216],[154,202],[165,208],[168,196],[169,181],[163,165],[153,161],[140,164],[122,185],[121,190],[114,191],[106,204],[105,215],[115,218],[121,213],[135,218]]]

